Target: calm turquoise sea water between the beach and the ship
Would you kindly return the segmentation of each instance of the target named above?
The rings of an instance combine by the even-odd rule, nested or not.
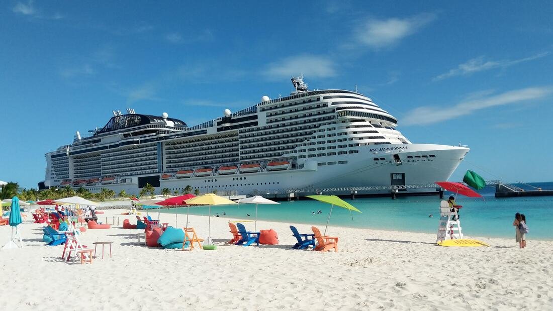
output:
[[[483,198],[459,196],[463,233],[469,236],[513,238],[513,220],[517,212],[526,215],[530,228],[529,239],[553,240],[553,197],[495,198],[493,192],[484,191]],[[446,193],[449,196],[449,193]],[[446,197],[447,198],[447,197]],[[335,207],[330,225],[352,228],[385,229],[436,233],[440,199],[437,196],[345,199],[362,213]],[[314,200],[280,202],[280,205],[259,205],[258,219],[284,223],[325,225],[330,205]],[[191,207],[190,214],[207,215],[208,207]],[[312,215],[321,210],[322,214]],[[186,208],[162,209],[165,213],[186,214]],[[255,204],[219,205],[211,208],[212,215],[255,219]],[[250,214],[251,217],[247,217]],[[429,218],[433,214],[434,218]],[[352,220],[353,217],[353,220]]]

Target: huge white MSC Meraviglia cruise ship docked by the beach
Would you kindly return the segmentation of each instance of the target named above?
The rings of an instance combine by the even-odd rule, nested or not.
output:
[[[292,83],[290,96],[263,96],[249,108],[225,109],[222,117],[190,127],[167,113],[114,110],[103,128],[88,137],[77,131],[72,144],[45,155],[39,188],[138,194],[149,183],[157,192],[191,186],[238,195],[297,195],[301,189],[378,194],[389,193],[387,186],[447,180],[469,151],[411,143],[396,129],[398,120],[363,94],[309,91],[302,76]]]

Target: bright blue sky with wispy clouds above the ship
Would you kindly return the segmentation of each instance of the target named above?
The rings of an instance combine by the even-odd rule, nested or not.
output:
[[[310,89],[357,85],[414,143],[471,147],[452,180],[551,181],[552,15],[548,1],[4,1],[0,180],[36,187],[44,154],[113,109],[195,125],[303,73]]]

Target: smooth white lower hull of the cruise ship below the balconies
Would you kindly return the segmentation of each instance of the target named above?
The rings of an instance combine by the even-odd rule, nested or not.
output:
[[[392,152],[385,150],[395,148],[402,149],[399,152],[400,165],[391,157]],[[374,149],[383,150],[372,151]],[[287,193],[318,191],[327,191],[332,194],[349,194],[351,188],[359,188],[357,194],[384,194],[390,192],[390,189],[386,187],[392,185],[392,174],[404,174],[405,185],[420,185],[448,180],[468,150],[465,147],[431,144],[367,146],[359,154],[341,155],[326,159],[327,163],[347,161],[347,164],[318,166],[316,161],[308,161],[304,168],[297,170],[264,170],[257,173],[192,177],[185,180],[161,180],[159,189],[169,188],[172,191],[181,191],[186,186],[191,186],[192,189],[199,189],[200,193],[210,193],[216,189],[217,193],[232,192],[238,195],[269,193],[285,196]],[[429,155],[435,157],[414,160],[415,156]],[[413,156],[413,160],[408,160],[408,156]],[[375,157],[379,159],[384,157],[386,160],[374,161]],[[422,159],[425,159],[425,161],[422,161]],[[137,183],[104,186],[116,192],[123,189],[127,193],[139,192]],[[367,186],[382,186],[383,188],[362,189]],[[406,189],[405,192],[431,191],[435,191],[435,189],[414,188]]]

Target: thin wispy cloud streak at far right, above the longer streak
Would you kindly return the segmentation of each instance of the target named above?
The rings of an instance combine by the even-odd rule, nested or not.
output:
[[[494,68],[507,68],[513,65],[520,64],[521,62],[532,61],[540,59],[549,55],[549,52],[543,52],[536,54],[534,56],[525,57],[518,60],[485,60],[484,56],[479,56],[474,59],[468,60],[467,62],[460,64],[457,68],[453,68],[446,73],[442,73],[439,76],[432,78],[432,81],[440,81],[454,76],[467,76],[471,75],[474,72],[491,70]]]

